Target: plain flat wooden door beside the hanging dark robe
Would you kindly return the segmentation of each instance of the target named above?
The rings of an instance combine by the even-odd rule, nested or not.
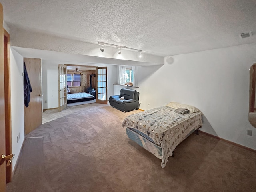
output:
[[[25,135],[42,124],[41,59],[24,58],[32,86],[28,107],[24,106]]]

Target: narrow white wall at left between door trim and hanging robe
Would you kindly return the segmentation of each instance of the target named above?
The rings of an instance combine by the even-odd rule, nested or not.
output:
[[[22,143],[24,141],[24,95],[23,95],[23,57],[12,48],[10,49],[10,88],[11,88],[11,115],[12,115],[12,161],[14,169]],[[17,142],[17,136],[20,139]]]

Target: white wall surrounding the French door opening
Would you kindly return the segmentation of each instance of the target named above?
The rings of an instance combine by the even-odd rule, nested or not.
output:
[[[58,64],[67,62],[42,60],[42,88],[43,88],[43,109],[58,107]],[[68,64],[81,65],[82,63],[68,62]],[[88,64],[86,64],[88,65]],[[117,82],[116,65],[91,64],[92,66],[107,66],[108,96],[113,94],[113,84]]]

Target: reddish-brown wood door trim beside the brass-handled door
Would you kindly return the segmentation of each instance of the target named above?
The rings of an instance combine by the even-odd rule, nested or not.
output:
[[[12,118],[10,88],[10,34],[4,30],[4,102],[5,102],[5,153],[12,154]],[[12,164],[6,167],[6,183],[12,181]]]

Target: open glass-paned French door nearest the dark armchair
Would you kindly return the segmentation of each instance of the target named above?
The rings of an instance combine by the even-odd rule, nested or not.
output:
[[[107,67],[96,67],[96,103],[107,104]]]

